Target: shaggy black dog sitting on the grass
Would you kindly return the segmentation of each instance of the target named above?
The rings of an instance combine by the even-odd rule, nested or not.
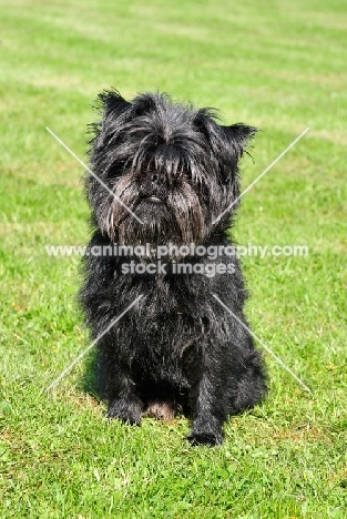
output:
[[[181,411],[193,419],[192,444],[221,444],[228,415],[266,391],[225,237],[238,162],[256,129],[220,125],[212,110],[165,94],[130,103],[108,91],[99,102],[103,118],[90,149],[98,179],[86,176],[94,234],[80,297],[93,338],[103,334],[98,365],[108,416],[140,425],[142,415]],[[127,245],[129,255],[110,254],[114,244]]]

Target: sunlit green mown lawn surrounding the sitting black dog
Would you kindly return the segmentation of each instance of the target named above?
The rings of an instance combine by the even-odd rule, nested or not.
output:
[[[343,0],[4,1],[1,13],[0,332],[3,518],[345,519],[346,6]],[[90,102],[160,89],[263,129],[241,244],[308,245],[308,257],[247,257],[255,333],[312,388],[264,354],[266,401],[191,448],[190,424],[108,423],[83,389],[91,358],[43,389],[89,344],[74,295],[83,244]]]

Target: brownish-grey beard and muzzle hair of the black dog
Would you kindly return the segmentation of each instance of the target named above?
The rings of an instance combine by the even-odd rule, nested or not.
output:
[[[202,242],[205,220],[201,200],[188,182],[166,193],[143,193],[126,175],[114,189],[104,224],[110,240],[121,245],[183,245]]]

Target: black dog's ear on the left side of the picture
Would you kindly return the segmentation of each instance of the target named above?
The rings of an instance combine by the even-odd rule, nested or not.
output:
[[[94,133],[93,147],[103,147],[119,132],[131,106],[118,90],[104,90],[98,95],[94,108],[102,112],[102,121],[91,125]]]

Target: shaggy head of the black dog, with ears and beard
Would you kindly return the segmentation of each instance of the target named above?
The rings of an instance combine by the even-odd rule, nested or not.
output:
[[[86,189],[102,233],[125,245],[204,242],[239,194],[238,161],[256,129],[222,126],[213,111],[164,94],[130,103],[109,91],[99,99],[91,167],[104,185],[90,175]],[[227,226],[229,214],[218,225]]]

